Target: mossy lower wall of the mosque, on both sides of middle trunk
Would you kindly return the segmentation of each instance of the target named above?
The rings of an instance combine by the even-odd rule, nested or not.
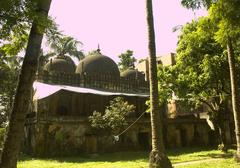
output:
[[[32,153],[42,156],[76,155],[124,150],[149,150],[151,131],[148,119],[141,120],[115,141],[111,136],[94,135],[83,119],[39,121],[31,128]],[[132,121],[131,121],[132,122]],[[129,122],[129,124],[131,123]],[[168,148],[206,146],[209,127],[203,120],[168,121],[165,144]],[[34,132],[35,131],[35,132]],[[29,138],[28,138],[29,139]]]

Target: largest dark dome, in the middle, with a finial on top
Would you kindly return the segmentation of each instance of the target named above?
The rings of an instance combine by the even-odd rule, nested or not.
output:
[[[119,77],[120,72],[117,64],[109,57],[94,52],[79,62],[76,73],[82,74],[104,74]]]

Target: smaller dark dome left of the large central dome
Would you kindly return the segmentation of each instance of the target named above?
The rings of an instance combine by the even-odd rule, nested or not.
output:
[[[44,70],[48,72],[74,73],[75,69],[74,62],[68,56],[57,56],[44,66]]]

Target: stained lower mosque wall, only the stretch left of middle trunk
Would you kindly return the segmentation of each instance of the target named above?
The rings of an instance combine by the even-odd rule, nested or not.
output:
[[[98,152],[144,149],[139,143],[139,132],[149,132],[149,126],[142,124],[132,127],[115,141],[111,136],[94,135],[83,120],[40,121],[27,125],[25,138],[26,152],[38,156],[65,156]],[[29,131],[31,130],[31,131]],[[150,136],[147,137],[149,141]],[[147,148],[149,148],[149,142]]]

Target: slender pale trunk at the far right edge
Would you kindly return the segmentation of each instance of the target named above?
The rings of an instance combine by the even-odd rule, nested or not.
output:
[[[228,37],[227,39],[227,52],[228,52],[228,63],[230,69],[230,79],[231,79],[231,92],[232,92],[232,108],[235,122],[235,133],[237,141],[237,153],[236,160],[240,161],[240,102],[239,102],[239,91],[237,84],[237,76],[235,69],[235,57],[234,49],[232,46],[232,39]]]

